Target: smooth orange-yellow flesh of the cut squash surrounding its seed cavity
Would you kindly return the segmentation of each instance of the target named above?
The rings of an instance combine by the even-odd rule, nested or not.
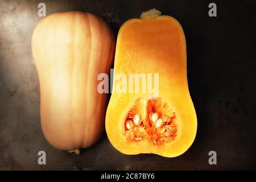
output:
[[[185,36],[179,22],[171,16],[125,22],[118,32],[115,51],[114,76],[118,73],[159,73],[159,97],[174,109],[178,132],[174,141],[162,146],[147,140],[127,140],[123,132],[127,111],[137,98],[150,95],[112,93],[106,113],[106,133],[113,146],[129,155],[151,153],[175,157],[187,151],[196,137],[197,118],[188,89]]]

